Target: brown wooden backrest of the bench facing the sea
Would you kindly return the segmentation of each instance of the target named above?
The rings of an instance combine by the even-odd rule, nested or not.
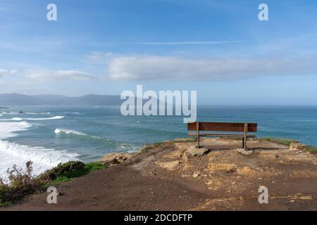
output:
[[[247,126],[245,126],[247,124]],[[254,123],[236,123],[236,122],[193,122],[187,124],[189,131],[235,131],[244,132],[247,127],[247,132],[256,132],[258,124]],[[199,128],[199,129],[197,129]]]

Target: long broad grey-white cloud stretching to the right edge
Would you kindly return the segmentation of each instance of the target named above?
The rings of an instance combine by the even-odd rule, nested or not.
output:
[[[317,75],[317,58],[120,56],[111,60],[108,71],[110,78],[117,80],[231,81],[270,75]]]

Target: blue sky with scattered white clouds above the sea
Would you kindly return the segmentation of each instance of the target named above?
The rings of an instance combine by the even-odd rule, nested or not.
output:
[[[142,84],[197,91],[199,104],[317,105],[316,11],[314,0],[1,0],[0,93]]]

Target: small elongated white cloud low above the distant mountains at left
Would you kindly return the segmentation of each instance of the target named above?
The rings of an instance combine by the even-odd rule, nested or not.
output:
[[[77,70],[27,70],[25,77],[37,81],[46,80],[94,80],[97,76]]]

